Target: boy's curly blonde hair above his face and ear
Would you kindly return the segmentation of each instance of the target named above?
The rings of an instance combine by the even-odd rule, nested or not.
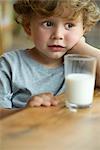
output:
[[[71,10],[71,19],[82,13],[86,32],[100,20],[100,9],[95,0],[15,0],[13,8],[17,14],[16,21],[22,25],[25,16],[61,16],[65,9]]]

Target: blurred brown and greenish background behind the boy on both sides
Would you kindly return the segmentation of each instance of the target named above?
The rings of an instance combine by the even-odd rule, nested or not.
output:
[[[100,7],[100,0],[95,0]],[[16,50],[31,48],[32,42],[24,33],[22,27],[14,20],[14,0],[0,0],[0,54]],[[100,48],[100,21],[91,32],[86,35],[91,45]]]

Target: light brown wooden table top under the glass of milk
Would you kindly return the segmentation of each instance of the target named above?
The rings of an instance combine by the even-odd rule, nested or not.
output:
[[[57,107],[1,110],[0,150],[100,150],[100,90],[92,108],[77,112],[59,99]]]

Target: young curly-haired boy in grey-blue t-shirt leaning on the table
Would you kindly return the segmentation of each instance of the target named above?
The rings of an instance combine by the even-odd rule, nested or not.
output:
[[[0,107],[57,105],[55,95],[64,91],[67,53],[97,57],[100,86],[100,51],[82,40],[100,19],[92,0],[16,0],[14,10],[35,47],[1,56]]]

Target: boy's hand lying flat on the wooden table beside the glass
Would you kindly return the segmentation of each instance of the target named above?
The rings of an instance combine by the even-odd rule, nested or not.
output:
[[[51,93],[42,93],[39,95],[32,96],[28,101],[26,107],[38,107],[38,106],[56,106],[58,100]]]

